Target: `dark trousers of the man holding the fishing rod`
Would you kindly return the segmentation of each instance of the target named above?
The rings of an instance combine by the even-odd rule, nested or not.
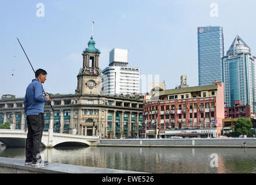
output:
[[[28,134],[26,139],[25,153],[26,162],[36,163],[41,159],[40,147],[45,125],[45,117],[43,113],[38,115],[27,116]]]

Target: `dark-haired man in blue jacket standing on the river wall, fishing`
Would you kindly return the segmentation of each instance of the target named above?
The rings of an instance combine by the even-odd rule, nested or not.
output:
[[[43,86],[47,72],[38,69],[35,72],[35,79],[28,85],[25,98],[24,110],[27,115],[27,139],[25,145],[25,165],[39,166],[49,162],[43,161],[40,154],[41,139],[45,117],[43,112],[43,102],[49,101],[49,95],[43,96]]]

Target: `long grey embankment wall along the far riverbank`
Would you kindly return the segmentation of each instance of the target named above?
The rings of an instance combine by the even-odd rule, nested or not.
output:
[[[256,148],[256,138],[100,139],[97,146],[124,147],[246,147]]]

